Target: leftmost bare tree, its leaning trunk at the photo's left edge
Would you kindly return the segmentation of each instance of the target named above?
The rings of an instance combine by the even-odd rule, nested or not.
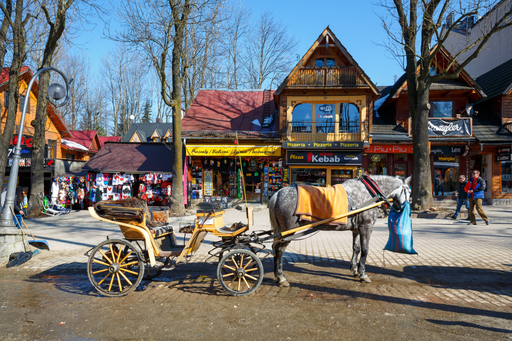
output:
[[[6,123],[4,131],[2,132],[2,138],[0,139],[0,179],[4,179],[5,167],[7,164],[7,157],[9,151],[9,145],[14,134],[14,126],[16,124],[16,113],[19,102],[19,74],[22,68],[23,62],[27,58],[25,48],[25,27],[29,20],[33,18],[32,14],[26,12],[23,0],[17,0],[14,8],[14,22],[12,21],[12,2],[8,1],[6,6],[0,3],[0,9],[4,14],[4,19],[7,20],[12,34],[12,60],[11,67],[9,69],[9,85],[8,85],[8,108]],[[24,17],[25,16],[25,17]],[[2,29],[4,26],[2,25]],[[8,30],[8,29],[7,29]],[[5,37],[7,37],[7,30]],[[2,42],[0,40],[0,42]],[[5,50],[6,41],[2,42]],[[3,55],[5,57],[5,54]]]

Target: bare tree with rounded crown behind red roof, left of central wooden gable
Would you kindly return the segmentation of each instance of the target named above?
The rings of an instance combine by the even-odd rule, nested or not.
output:
[[[251,27],[245,44],[244,66],[252,89],[261,89],[264,83],[272,88],[290,72],[297,40],[288,36],[287,28],[268,11]]]

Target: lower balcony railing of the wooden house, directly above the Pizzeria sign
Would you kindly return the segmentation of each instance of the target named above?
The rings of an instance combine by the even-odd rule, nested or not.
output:
[[[366,121],[288,121],[288,141],[364,141]]]

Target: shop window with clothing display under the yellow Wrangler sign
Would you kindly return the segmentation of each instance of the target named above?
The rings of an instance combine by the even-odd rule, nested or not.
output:
[[[459,174],[459,156],[434,156],[434,196],[456,195]]]

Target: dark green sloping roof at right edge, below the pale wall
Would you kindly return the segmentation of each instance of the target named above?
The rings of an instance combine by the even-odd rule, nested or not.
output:
[[[493,98],[512,93],[512,59],[505,61],[496,68],[487,71],[476,79],[476,82],[487,95]]]

